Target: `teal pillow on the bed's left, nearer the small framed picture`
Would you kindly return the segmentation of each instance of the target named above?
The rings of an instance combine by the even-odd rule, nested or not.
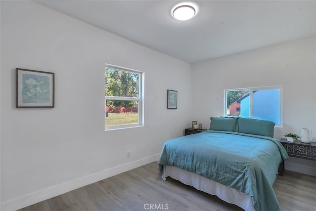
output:
[[[211,117],[210,130],[237,131],[237,118],[235,117]]]

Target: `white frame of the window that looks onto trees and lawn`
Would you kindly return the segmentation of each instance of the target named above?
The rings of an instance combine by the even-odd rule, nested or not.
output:
[[[105,69],[114,69],[118,71],[125,71],[139,74],[138,79],[138,97],[119,97],[119,96],[104,96],[104,108],[106,108],[107,100],[128,100],[128,101],[138,101],[138,123],[135,124],[128,124],[128,125],[118,125],[118,126],[106,126],[106,111],[104,112],[104,127],[105,130],[114,130],[114,129],[125,129],[125,128],[132,128],[132,127],[143,127],[144,126],[144,72],[133,70],[125,67],[120,67],[111,64],[105,64]],[[105,85],[105,83],[104,83]]]

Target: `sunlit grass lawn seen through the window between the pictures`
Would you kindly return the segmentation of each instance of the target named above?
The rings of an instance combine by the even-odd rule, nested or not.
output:
[[[106,127],[138,123],[138,113],[109,113],[106,118]]]

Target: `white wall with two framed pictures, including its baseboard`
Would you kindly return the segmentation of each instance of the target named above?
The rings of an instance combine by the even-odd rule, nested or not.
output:
[[[35,2],[0,4],[1,210],[153,162],[190,127],[191,64]],[[145,72],[145,127],[104,131],[105,63]],[[55,108],[16,109],[15,68],[54,72]]]

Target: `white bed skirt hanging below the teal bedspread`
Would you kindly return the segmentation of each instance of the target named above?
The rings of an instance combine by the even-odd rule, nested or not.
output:
[[[179,180],[183,184],[193,186],[197,190],[216,195],[225,202],[237,205],[245,211],[254,211],[251,197],[235,188],[220,184],[190,171],[171,166],[163,166],[161,177],[163,180],[166,180],[167,176]]]

